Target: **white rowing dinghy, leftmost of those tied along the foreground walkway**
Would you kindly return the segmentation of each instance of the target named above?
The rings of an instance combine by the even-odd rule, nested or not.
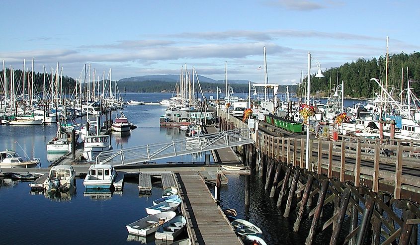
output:
[[[175,215],[175,212],[162,212],[149,215],[140,220],[136,220],[125,227],[129,234],[146,237],[147,235],[155,233],[160,226],[169,222]]]

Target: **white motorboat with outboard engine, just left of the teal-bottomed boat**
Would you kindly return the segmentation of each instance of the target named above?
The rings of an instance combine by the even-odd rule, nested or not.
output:
[[[47,191],[66,191],[75,184],[76,171],[71,165],[53,166],[44,181],[44,189]]]

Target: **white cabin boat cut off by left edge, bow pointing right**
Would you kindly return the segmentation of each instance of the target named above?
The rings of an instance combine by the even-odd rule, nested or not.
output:
[[[12,150],[0,152],[0,168],[15,168],[15,167],[34,167],[40,166],[41,161],[39,158],[32,160],[25,159]]]

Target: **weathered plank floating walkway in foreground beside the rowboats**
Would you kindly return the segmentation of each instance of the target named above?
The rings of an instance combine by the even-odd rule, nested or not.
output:
[[[198,172],[180,171],[176,173],[176,178],[193,244],[243,244],[231,230],[223,211],[217,206]]]

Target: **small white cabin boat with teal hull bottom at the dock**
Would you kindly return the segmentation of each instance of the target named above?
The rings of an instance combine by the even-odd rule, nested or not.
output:
[[[111,164],[92,164],[84,177],[83,185],[86,189],[109,189],[116,175]]]

